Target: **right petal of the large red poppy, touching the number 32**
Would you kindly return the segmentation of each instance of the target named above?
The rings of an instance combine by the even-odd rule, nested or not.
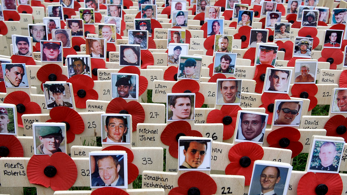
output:
[[[69,155],[56,152],[52,154],[50,164],[57,169],[57,174],[50,178],[50,186],[54,191],[68,190],[74,185],[77,179],[77,167]]]

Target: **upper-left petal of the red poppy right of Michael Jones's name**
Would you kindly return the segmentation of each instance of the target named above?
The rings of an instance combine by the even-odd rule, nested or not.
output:
[[[192,127],[187,121],[175,121],[169,123],[160,135],[160,140],[165,145],[171,145],[172,143],[177,143],[176,135],[179,133],[188,133],[191,131]],[[178,147],[177,147],[178,149]]]

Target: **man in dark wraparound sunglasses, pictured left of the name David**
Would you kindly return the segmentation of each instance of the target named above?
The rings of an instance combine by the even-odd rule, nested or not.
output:
[[[277,109],[277,120],[273,123],[274,125],[298,125],[291,124],[295,117],[299,114],[301,105],[298,101],[282,101],[278,105]]]

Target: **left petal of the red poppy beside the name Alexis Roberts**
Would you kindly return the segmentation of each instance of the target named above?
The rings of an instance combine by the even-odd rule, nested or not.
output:
[[[26,169],[29,183],[49,187],[50,178],[43,173],[43,169],[50,165],[49,162],[49,155],[33,155],[30,158]]]

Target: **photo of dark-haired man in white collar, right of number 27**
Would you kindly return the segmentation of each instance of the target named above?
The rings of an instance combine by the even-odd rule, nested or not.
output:
[[[193,94],[168,94],[168,120],[194,119]]]

